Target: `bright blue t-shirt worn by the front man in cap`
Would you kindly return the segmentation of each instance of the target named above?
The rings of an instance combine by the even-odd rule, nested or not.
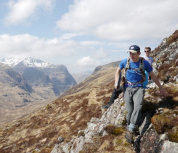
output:
[[[142,79],[142,73],[140,71],[140,59],[138,62],[133,62],[131,59],[130,59],[130,68],[127,70],[126,72],[126,80],[128,82],[131,82],[131,83],[135,83],[134,87],[141,87],[143,86],[143,84],[139,83]],[[146,60],[143,60],[143,63],[144,63],[144,68],[145,70],[150,73],[153,68],[152,66],[149,64],[148,61]],[[122,70],[123,68],[126,67],[126,64],[127,64],[127,58],[122,60],[120,62],[120,69]],[[126,87],[128,87],[129,85],[126,84]]]

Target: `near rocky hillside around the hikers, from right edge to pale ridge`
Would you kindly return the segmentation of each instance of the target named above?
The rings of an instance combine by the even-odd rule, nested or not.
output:
[[[172,37],[175,39],[169,43]],[[153,51],[156,61],[154,65],[169,97],[160,99],[159,90],[155,84],[149,85],[144,99],[143,116],[140,118],[141,135],[136,137],[133,145],[126,142],[124,137],[126,111],[123,98],[120,96],[102,114],[101,118],[93,117],[87,123],[86,129],[79,131],[78,135],[69,142],[59,141],[51,153],[177,153],[178,67],[176,57],[178,55],[178,31],[164,39],[158,48]],[[171,60],[170,56],[165,56],[165,54],[172,55]],[[156,59],[161,59],[161,65]],[[102,67],[98,67],[96,71],[100,71],[100,69]]]

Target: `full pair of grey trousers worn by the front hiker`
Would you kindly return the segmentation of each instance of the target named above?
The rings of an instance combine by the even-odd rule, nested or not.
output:
[[[126,88],[124,92],[124,101],[127,110],[127,124],[136,126],[141,118],[141,109],[143,106],[145,89],[142,87]],[[133,127],[134,128],[134,127]]]

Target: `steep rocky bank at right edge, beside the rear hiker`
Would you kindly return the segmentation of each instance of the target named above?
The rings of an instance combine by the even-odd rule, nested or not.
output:
[[[153,66],[159,78],[165,83],[178,82],[178,30],[153,50]]]

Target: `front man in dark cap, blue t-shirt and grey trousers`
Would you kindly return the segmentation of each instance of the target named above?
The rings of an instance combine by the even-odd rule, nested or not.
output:
[[[141,60],[140,47],[132,45],[129,47],[130,62],[128,59],[124,59],[120,62],[120,66],[115,73],[115,88],[117,89],[119,74],[122,69],[125,69],[125,83],[124,83],[124,101],[126,103],[127,110],[127,124],[128,131],[126,132],[126,139],[128,142],[133,143],[133,135],[138,129],[138,120],[141,118],[141,109],[144,100],[145,89],[143,86],[143,73],[140,70],[140,64],[144,65],[144,69],[149,73],[153,81],[160,89],[160,93],[163,96],[167,96],[167,92],[159,83],[159,80],[155,76],[152,66],[146,60]],[[129,64],[128,64],[129,63]],[[127,68],[129,67],[129,68]]]

